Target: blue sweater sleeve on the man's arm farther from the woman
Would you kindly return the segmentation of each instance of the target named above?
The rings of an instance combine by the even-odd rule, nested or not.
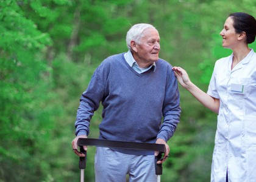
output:
[[[103,63],[95,70],[91,81],[80,97],[80,104],[77,109],[75,122],[76,135],[89,135],[90,121],[94,112],[99,108],[99,104],[104,98],[104,83],[107,76],[104,73]]]

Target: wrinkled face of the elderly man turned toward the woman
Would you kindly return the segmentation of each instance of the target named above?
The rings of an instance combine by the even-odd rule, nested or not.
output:
[[[151,65],[158,60],[160,51],[160,36],[157,30],[149,28],[143,31],[144,36],[141,41],[136,44],[133,58],[138,62],[139,66]]]

